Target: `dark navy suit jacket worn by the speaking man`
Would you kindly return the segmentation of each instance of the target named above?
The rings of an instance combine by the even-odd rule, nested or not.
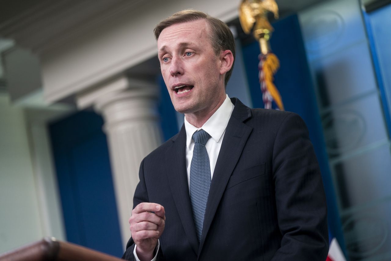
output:
[[[201,241],[192,218],[186,132],[140,167],[134,206],[159,203],[165,230],[158,260],[324,261],[326,199],[303,120],[292,112],[250,109],[236,98],[209,191]],[[123,256],[133,260],[134,242]]]

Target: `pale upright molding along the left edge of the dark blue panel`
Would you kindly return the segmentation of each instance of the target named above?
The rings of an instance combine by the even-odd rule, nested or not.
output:
[[[61,199],[47,123],[72,109],[25,109],[27,133],[43,236],[66,240]]]

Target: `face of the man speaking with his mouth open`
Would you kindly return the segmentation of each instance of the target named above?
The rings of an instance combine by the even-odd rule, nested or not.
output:
[[[170,25],[158,38],[161,74],[178,112],[210,112],[225,98],[225,71],[209,31],[205,20],[196,20]]]

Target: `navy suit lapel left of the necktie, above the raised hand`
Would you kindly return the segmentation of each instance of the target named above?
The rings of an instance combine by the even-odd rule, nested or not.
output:
[[[195,232],[192,208],[189,196],[186,170],[186,130],[183,125],[172,146],[166,154],[166,174],[169,180],[172,198],[178,210],[183,228],[195,253],[198,252],[199,243]]]

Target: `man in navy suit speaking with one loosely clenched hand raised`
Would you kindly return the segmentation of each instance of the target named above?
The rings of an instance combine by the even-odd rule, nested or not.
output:
[[[141,163],[123,257],[325,260],[325,195],[303,120],[228,98],[235,45],[220,20],[185,10],[154,33],[185,124]]]

